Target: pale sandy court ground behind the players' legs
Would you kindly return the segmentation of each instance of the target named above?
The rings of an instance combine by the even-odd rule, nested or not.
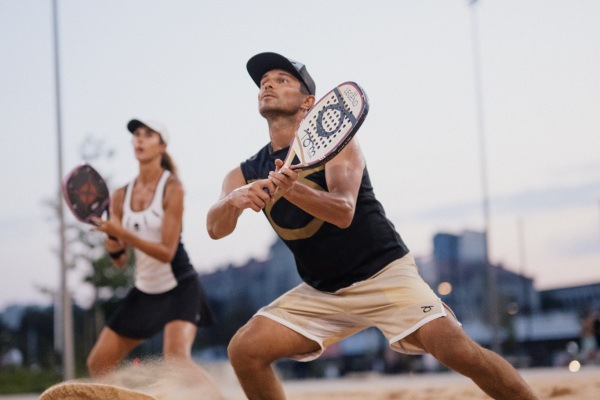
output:
[[[206,367],[227,400],[244,396],[228,364]],[[148,377],[156,381],[156,369]],[[520,370],[540,399],[599,400],[600,366],[583,367],[576,373],[566,368]],[[129,376],[130,371],[124,371]],[[139,369],[137,381],[141,382]],[[164,380],[164,379],[163,379]],[[128,386],[131,386],[129,382]],[[489,399],[469,379],[453,372],[415,375],[357,375],[335,380],[285,381],[288,400],[483,400]],[[174,393],[161,400],[212,400],[202,388],[185,391],[177,382],[163,382],[161,392]],[[144,390],[148,392],[148,390]],[[0,400],[37,400],[39,394],[0,396]]]

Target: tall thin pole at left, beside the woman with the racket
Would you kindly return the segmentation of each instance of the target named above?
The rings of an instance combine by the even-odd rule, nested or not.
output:
[[[54,82],[56,95],[56,135],[58,144],[58,218],[60,224],[60,316],[62,321],[62,340],[60,343],[60,351],[62,353],[62,372],[64,380],[75,378],[75,351],[73,345],[73,310],[71,304],[71,295],[67,285],[67,262],[65,256],[66,239],[65,239],[65,218],[64,206],[62,198],[62,121],[61,121],[61,103],[60,103],[60,65],[58,51],[58,10],[57,0],[52,0],[52,27],[54,38]]]

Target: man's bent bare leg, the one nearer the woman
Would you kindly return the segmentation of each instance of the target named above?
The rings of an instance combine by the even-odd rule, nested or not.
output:
[[[285,393],[271,364],[317,351],[320,346],[267,317],[255,316],[229,343],[229,361],[249,400],[282,400]]]

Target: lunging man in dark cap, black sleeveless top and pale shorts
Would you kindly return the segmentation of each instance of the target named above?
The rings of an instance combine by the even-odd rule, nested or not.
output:
[[[258,110],[267,120],[270,143],[227,174],[208,212],[208,232],[222,238],[245,209],[263,210],[304,281],[259,310],[229,344],[248,398],[285,398],[274,361],[313,360],[332,343],[376,326],[393,350],[431,353],[493,398],[536,399],[510,364],[467,337],[418,275],[375,199],[356,138],[325,166],[300,173],[281,168],[296,128],[315,102],[306,67],[261,53],[247,69],[260,88]]]

